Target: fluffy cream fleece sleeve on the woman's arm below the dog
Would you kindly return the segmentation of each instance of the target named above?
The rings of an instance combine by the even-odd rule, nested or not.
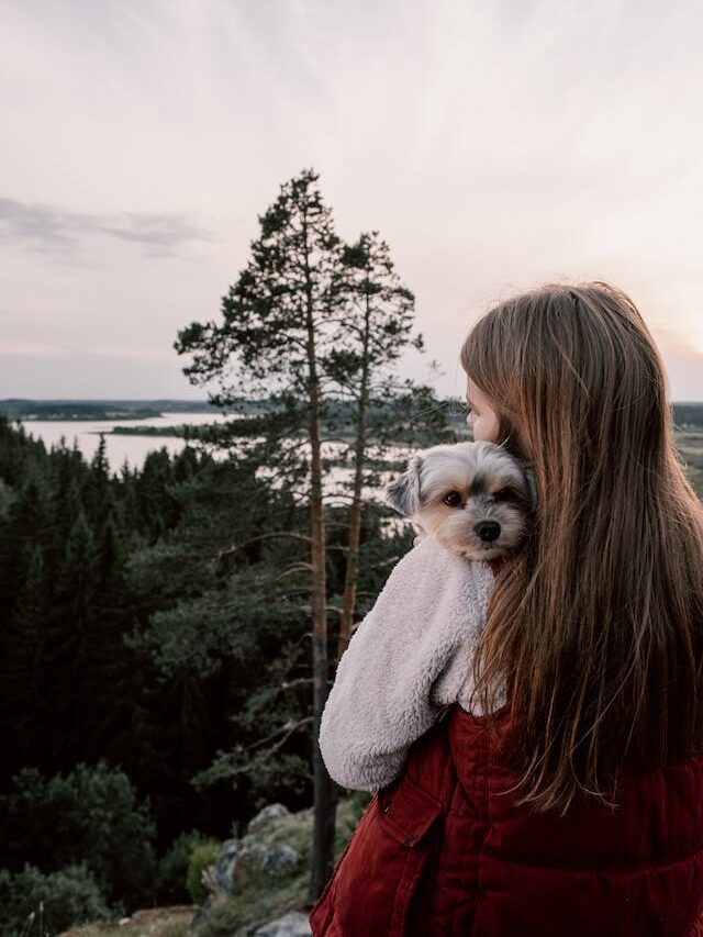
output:
[[[384,788],[446,705],[470,711],[471,658],[492,584],[488,564],[460,559],[431,536],[393,568],[322,714],[320,749],[338,784]]]

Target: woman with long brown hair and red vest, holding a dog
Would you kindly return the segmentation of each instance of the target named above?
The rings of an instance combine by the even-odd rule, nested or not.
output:
[[[489,312],[461,362],[475,437],[533,466],[535,523],[467,662],[479,715],[408,739],[313,934],[703,935],[703,512],[652,339],[621,291],[554,286]],[[326,711],[350,740],[386,692],[359,648],[362,705],[335,683]],[[378,751],[354,757],[368,777]]]

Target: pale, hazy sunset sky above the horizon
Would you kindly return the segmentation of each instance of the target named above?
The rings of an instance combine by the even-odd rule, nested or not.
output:
[[[379,231],[415,293],[405,375],[460,395],[494,302],[599,279],[671,398],[703,400],[698,0],[0,0],[0,398],[203,399],[177,332],[219,316],[313,167],[337,233]]]

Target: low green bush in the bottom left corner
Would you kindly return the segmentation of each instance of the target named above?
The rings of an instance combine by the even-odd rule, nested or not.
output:
[[[34,866],[0,871],[0,934],[53,937],[75,924],[109,916],[98,883],[86,866],[45,875]]]

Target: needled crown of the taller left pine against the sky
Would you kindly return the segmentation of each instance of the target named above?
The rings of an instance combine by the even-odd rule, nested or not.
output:
[[[179,333],[177,350],[192,358],[186,373],[193,383],[215,379],[217,405],[246,390],[304,409],[313,369],[334,346],[338,330],[321,327],[339,305],[341,242],[316,180],[304,170],[286,182],[259,219],[252,257],[223,298],[222,324],[193,322]]]

